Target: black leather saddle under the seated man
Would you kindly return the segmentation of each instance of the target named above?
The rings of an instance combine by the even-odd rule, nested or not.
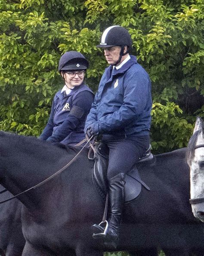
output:
[[[95,145],[95,163],[92,169],[92,179],[93,184],[96,186],[99,194],[105,199],[107,194],[107,167],[108,167],[108,147],[100,142]],[[153,154],[151,154],[151,145],[145,154],[139,158],[139,161],[136,163],[152,163],[154,160]],[[142,186],[145,189],[150,190],[150,188],[140,179],[138,168],[133,166],[133,169],[130,170],[125,176],[125,202],[131,202],[136,199],[141,190]]]

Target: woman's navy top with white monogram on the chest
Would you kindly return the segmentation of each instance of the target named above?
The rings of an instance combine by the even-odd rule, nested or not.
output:
[[[59,90],[53,99],[48,123],[39,138],[65,145],[82,141],[93,99],[93,92],[84,84],[75,86],[68,95]]]

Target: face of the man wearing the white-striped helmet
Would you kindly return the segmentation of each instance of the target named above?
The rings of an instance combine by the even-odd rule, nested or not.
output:
[[[124,52],[125,51],[127,51],[127,46],[125,46],[124,48]],[[120,57],[120,52],[121,52],[121,46],[112,46],[112,47],[104,48],[104,55],[109,65],[114,65],[117,62],[117,60]],[[125,57],[123,56],[121,58],[121,62],[124,61],[124,59]],[[116,66],[120,65],[120,63],[118,63]]]

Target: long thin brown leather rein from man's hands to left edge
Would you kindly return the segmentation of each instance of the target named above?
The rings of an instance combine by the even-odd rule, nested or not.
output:
[[[17,196],[22,195],[22,194],[24,194],[25,192],[28,192],[28,191],[30,191],[30,190],[32,190],[32,189],[36,189],[37,187],[43,185],[45,182],[49,181],[50,179],[53,179],[53,178],[54,178],[55,176],[57,176],[59,173],[62,173],[63,170],[65,170],[68,166],[71,165],[71,163],[74,162],[74,160],[78,157],[78,155],[81,153],[81,151],[84,149],[84,147],[86,147],[87,144],[90,142],[90,140],[92,140],[92,138],[93,138],[93,136],[88,139],[87,143],[86,143],[86,144],[82,147],[82,149],[76,154],[76,156],[75,156],[74,158],[72,158],[72,160],[71,160],[69,163],[67,163],[64,167],[62,167],[59,171],[57,171],[57,172],[54,173],[53,175],[49,176],[47,179],[43,180],[42,182],[38,183],[37,185],[31,187],[30,189],[27,189],[27,190],[25,190],[25,191],[19,193],[18,195],[14,195],[14,196],[12,196],[12,197],[9,198],[9,199],[6,199],[6,200],[0,202],[0,204],[3,204],[3,203],[5,203],[5,202],[8,202],[8,201],[10,201],[10,200],[16,198]]]

